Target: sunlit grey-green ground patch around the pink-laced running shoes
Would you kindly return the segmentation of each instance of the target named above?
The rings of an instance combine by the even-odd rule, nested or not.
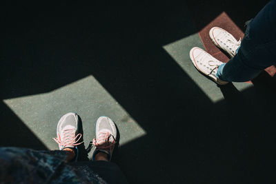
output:
[[[146,134],[93,76],[52,92],[6,99],[4,102],[50,150],[58,149],[51,138],[57,136],[57,122],[67,112],[81,116],[86,146],[95,138],[99,116],[109,116],[115,123],[118,122],[121,145]]]

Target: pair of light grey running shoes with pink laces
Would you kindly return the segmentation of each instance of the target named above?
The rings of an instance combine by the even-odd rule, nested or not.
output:
[[[59,150],[71,148],[75,151],[75,161],[77,161],[78,156],[77,145],[83,143],[80,142],[82,135],[79,134],[79,124],[80,118],[78,114],[69,112],[63,115],[57,124],[57,138],[54,138],[59,144]],[[117,129],[115,123],[106,116],[99,117],[96,123],[96,138],[92,141],[92,144],[96,147],[92,161],[94,161],[95,155],[99,152],[106,153],[110,161],[116,138]]]

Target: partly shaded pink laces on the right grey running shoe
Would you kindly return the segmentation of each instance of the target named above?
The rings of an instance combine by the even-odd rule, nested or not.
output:
[[[109,139],[110,137],[113,137],[113,141],[112,143],[110,143]],[[99,149],[106,149],[109,147],[112,147],[112,145],[115,145],[115,138],[112,134],[110,134],[109,132],[101,132],[99,134],[99,137],[97,139],[93,139],[92,144],[95,145],[96,147],[98,147]]]

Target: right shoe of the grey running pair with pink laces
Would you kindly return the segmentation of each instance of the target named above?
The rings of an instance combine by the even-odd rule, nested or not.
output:
[[[106,116],[101,116],[96,123],[96,139],[93,139],[95,151],[92,156],[92,161],[99,153],[105,153],[108,156],[108,161],[111,160],[117,138],[117,129],[115,123]]]

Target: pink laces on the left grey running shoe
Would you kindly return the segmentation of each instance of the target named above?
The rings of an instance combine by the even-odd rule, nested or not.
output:
[[[56,141],[59,145],[62,145],[63,147],[68,147],[68,146],[76,146],[80,145],[81,143],[77,143],[79,139],[81,139],[81,134],[77,134],[75,136],[75,129],[68,129],[68,130],[63,130],[63,141],[61,141],[58,138],[53,138],[54,141]]]

